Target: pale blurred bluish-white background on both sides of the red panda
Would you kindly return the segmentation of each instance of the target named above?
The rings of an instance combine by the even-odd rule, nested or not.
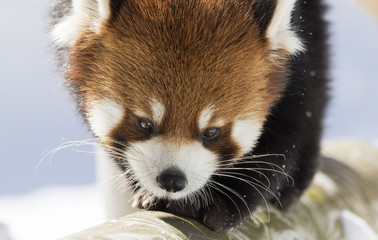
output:
[[[92,138],[51,60],[50,2],[0,5],[0,223],[13,239],[51,239],[103,220],[93,154],[61,150],[36,169],[60,144]],[[324,138],[378,146],[377,22],[349,0],[328,2],[332,101]]]

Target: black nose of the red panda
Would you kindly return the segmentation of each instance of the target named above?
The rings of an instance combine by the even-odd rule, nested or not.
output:
[[[179,192],[188,185],[185,174],[177,168],[168,168],[156,178],[157,184],[167,192]]]

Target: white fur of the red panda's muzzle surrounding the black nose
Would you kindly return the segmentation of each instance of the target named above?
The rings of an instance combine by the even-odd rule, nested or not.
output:
[[[131,144],[125,153],[136,178],[144,189],[157,197],[179,199],[201,189],[217,166],[217,156],[199,142],[184,146],[163,141],[160,137]],[[156,178],[168,168],[180,169],[188,185],[179,192],[167,193]]]

